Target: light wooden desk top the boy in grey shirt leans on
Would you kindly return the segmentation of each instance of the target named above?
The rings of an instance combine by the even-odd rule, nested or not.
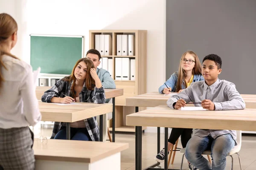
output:
[[[126,125],[256,131],[256,109],[181,111],[158,106],[127,115]]]

